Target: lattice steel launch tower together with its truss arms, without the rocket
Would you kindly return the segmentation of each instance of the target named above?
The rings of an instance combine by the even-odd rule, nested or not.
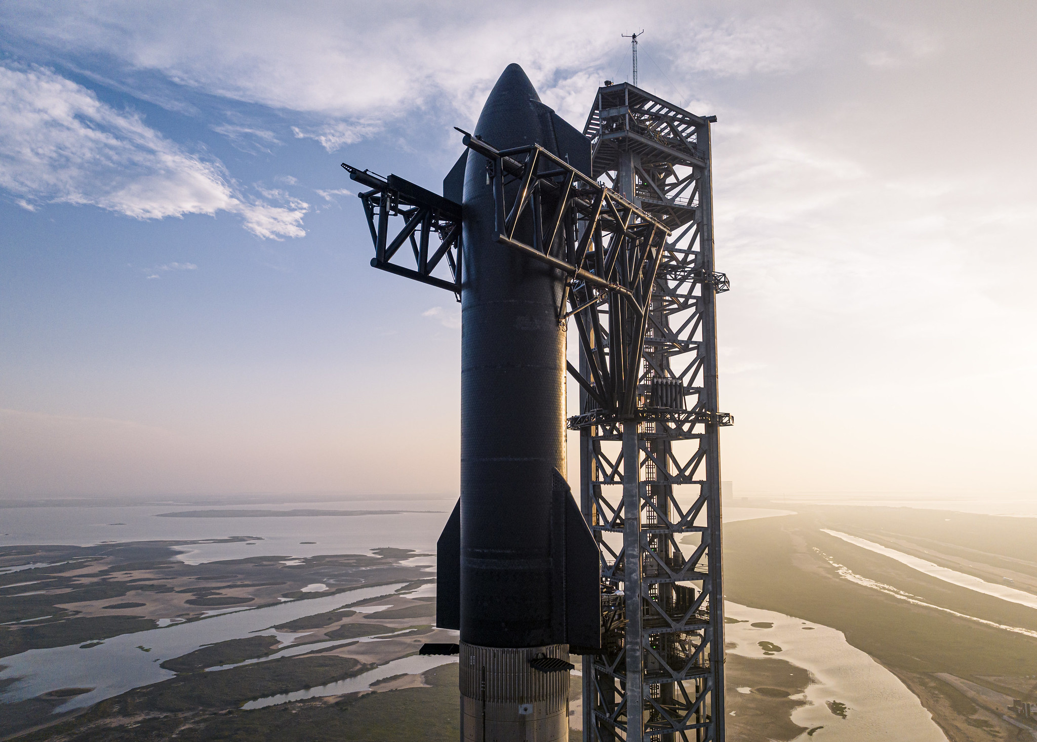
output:
[[[585,127],[591,177],[538,145],[464,138],[494,182],[501,249],[562,274],[558,321],[580,339],[569,427],[602,590],[601,649],[570,648],[587,652],[587,742],[724,740],[718,429],[732,421],[717,392],[716,295],[728,281],[713,268],[713,120],[625,83],[600,88]],[[459,297],[460,205],[343,167],[371,189],[359,194],[371,265]],[[514,238],[521,219],[532,245]]]

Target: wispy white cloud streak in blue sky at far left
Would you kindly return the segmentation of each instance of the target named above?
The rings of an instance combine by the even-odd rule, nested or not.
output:
[[[219,161],[51,69],[0,65],[0,188],[23,207],[89,204],[141,220],[228,211],[259,237],[306,233],[302,201],[273,206],[240,193]]]

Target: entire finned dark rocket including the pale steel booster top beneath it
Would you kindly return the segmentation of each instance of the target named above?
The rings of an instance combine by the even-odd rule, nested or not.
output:
[[[517,64],[473,136],[497,150],[539,144],[590,177],[590,142]],[[570,646],[600,643],[598,551],[563,477],[564,277],[497,241],[493,178],[468,149],[444,180],[464,230],[461,454],[460,498],[438,545],[437,623],[460,631],[461,739],[551,742],[568,738]],[[507,203],[518,187],[505,179]],[[527,220],[514,238],[532,245]]]

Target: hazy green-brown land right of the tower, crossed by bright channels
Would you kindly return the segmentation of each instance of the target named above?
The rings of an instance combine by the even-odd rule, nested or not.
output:
[[[1009,686],[1022,687],[1028,676],[1037,675],[1037,639],[1000,627],[1037,629],[1037,610],[948,583],[822,529],[915,552],[948,568],[961,565],[944,562],[943,553],[981,564],[987,575],[1005,565],[1037,575],[1037,519],[796,507],[795,515],[725,525],[727,598],[842,632],[851,647],[896,675],[951,739],[1015,739],[1020,730],[1003,718],[1005,709],[971,702],[940,674],[1003,693],[1011,692]],[[864,580],[853,581],[847,571]],[[1031,701],[1037,700],[1033,693],[1027,694]],[[826,731],[816,731],[811,739],[824,739]]]

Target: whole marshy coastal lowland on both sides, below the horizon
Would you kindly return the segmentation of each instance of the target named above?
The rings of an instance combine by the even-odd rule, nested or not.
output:
[[[859,679],[845,675],[852,653],[853,661],[885,674],[884,682],[893,680],[889,673],[899,678],[902,686],[893,688],[897,703],[920,702],[915,710],[931,713],[947,737],[1016,738],[1019,729],[983,706],[987,696],[971,698],[941,674],[989,688],[989,697],[1032,697],[1037,681],[1027,676],[1037,675],[1037,639],[997,625],[1037,629],[1033,609],[949,584],[821,529],[984,579],[1015,575],[1015,587],[1026,590],[1027,576],[1037,580],[1037,519],[798,504],[801,512],[792,513],[777,504],[758,505],[733,509],[724,532],[727,597],[737,603],[728,606],[728,616],[741,621],[727,627],[736,645],[726,665],[730,742],[888,738],[868,736],[885,729],[885,707],[869,706],[860,697],[865,691]],[[739,521],[739,510],[770,517]],[[348,524],[338,535],[343,543],[360,543],[369,535],[355,539],[355,531],[394,517],[424,518],[432,523],[430,533],[442,516],[331,520]],[[152,520],[193,527],[226,518]],[[251,522],[305,529],[310,520]],[[1002,527],[1000,521],[1010,522]],[[433,628],[429,551],[372,544],[373,550],[314,553],[317,545],[298,530],[290,543],[300,545],[281,555],[270,553],[287,538],[219,541],[13,546],[0,552],[0,605],[20,606],[18,620],[0,631],[34,647],[0,658],[8,665],[0,673],[2,717],[5,723],[16,720],[0,737],[376,742],[405,733],[420,740],[456,739],[456,664],[444,658],[447,664],[429,669],[437,658],[416,656],[424,641],[456,641],[455,632]],[[184,551],[194,549],[242,555],[186,563]],[[908,593],[918,604],[853,582],[833,562]],[[35,608],[44,612],[30,616]],[[993,625],[946,612],[952,608]],[[59,612],[47,616],[52,610]],[[84,638],[67,641],[63,632],[69,628]],[[833,637],[841,643],[836,650],[826,645]],[[19,646],[25,645],[13,649]],[[91,656],[101,659],[85,659]],[[32,667],[46,665],[60,672],[33,678]],[[128,677],[136,673],[139,682]],[[118,682],[108,687],[111,679]],[[573,674],[573,727],[581,725],[579,680]],[[39,724],[46,727],[32,731]],[[930,722],[925,734],[934,729]]]

